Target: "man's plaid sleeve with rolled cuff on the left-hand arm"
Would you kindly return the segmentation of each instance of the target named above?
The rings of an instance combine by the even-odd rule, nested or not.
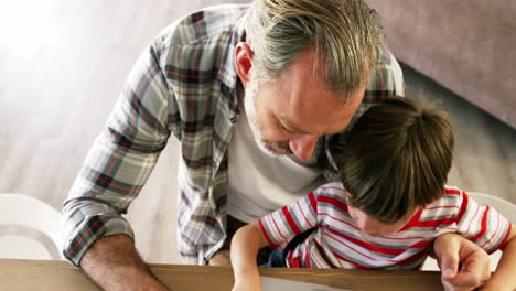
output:
[[[63,205],[63,254],[74,265],[97,239],[133,236],[121,217],[149,177],[171,132],[176,103],[160,67],[158,42],[133,66],[104,131]]]

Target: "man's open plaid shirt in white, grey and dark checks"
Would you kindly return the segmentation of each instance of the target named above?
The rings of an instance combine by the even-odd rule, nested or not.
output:
[[[181,142],[179,249],[205,263],[226,238],[227,148],[243,104],[234,47],[244,37],[247,6],[219,6],[165,28],[143,52],[96,139],[63,208],[63,254],[78,265],[97,239],[133,236],[121,216],[149,177],[171,133]],[[387,50],[372,74],[357,116],[404,95],[401,69]],[[332,152],[345,132],[324,138],[318,158],[336,181]]]

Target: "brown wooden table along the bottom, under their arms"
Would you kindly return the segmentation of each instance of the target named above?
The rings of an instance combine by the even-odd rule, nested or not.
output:
[[[151,265],[160,280],[174,291],[228,291],[229,267]],[[442,290],[439,272],[261,269],[262,276],[326,284],[351,290]],[[100,290],[66,261],[0,259],[0,290]]]

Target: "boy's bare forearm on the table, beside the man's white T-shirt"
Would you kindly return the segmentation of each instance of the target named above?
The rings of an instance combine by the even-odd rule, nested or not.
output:
[[[261,290],[260,274],[256,265],[258,250],[269,242],[264,237],[258,222],[239,228],[232,239],[230,258],[235,285],[233,291]]]

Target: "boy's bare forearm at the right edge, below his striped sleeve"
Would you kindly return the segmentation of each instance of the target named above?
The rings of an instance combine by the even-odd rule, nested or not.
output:
[[[496,271],[482,290],[516,290],[516,230],[514,224],[502,250],[502,259],[496,267]]]

